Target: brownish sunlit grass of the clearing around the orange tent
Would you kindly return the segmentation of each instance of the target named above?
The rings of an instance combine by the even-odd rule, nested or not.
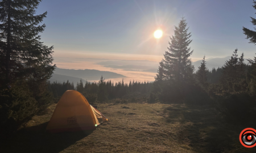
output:
[[[256,152],[238,139],[244,128],[254,127],[225,124],[207,106],[99,104],[110,121],[97,130],[44,133],[55,105],[2,144],[0,152]]]

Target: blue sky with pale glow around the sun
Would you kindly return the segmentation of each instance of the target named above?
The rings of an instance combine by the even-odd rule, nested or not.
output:
[[[252,5],[251,0],[43,0],[37,13],[48,11],[41,35],[44,44],[55,46],[53,57],[153,61],[163,57],[174,25],[185,16],[193,39],[191,58],[196,61],[204,55],[231,56],[236,48],[253,58],[256,46],[242,32],[243,26],[253,29]],[[152,36],[158,28],[164,35],[156,40]]]

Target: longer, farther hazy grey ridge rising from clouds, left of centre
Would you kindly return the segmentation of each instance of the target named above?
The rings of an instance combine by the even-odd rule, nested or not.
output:
[[[60,69],[57,68],[53,71],[54,74],[65,75],[65,76],[72,76],[75,78],[82,78],[84,80],[100,80],[101,76],[105,79],[112,79],[112,78],[125,78],[125,75],[113,73],[110,71],[99,71],[99,70],[74,70],[74,69]]]

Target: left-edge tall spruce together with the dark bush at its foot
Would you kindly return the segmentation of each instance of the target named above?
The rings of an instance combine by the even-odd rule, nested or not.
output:
[[[39,33],[46,27],[40,23],[47,15],[35,15],[40,2],[0,0],[0,138],[52,101],[47,79],[55,69],[53,46],[40,42]]]

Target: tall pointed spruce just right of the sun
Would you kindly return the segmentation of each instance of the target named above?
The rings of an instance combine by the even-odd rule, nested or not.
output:
[[[179,26],[175,26],[174,36],[170,37],[168,51],[164,53],[163,73],[168,79],[177,82],[189,82],[193,78],[194,67],[189,56],[193,53],[189,44],[191,33],[188,33],[187,23],[184,18],[180,20]],[[159,75],[160,75],[159,71]]]

